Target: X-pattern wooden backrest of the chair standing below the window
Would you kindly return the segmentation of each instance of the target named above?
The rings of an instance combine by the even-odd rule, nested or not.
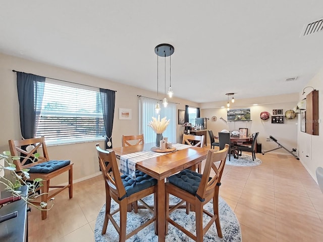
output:
[[[26,147],[34,146],[31,150],[26,150]],[[25,140],[9,140],[9,148],[12,156],[21,156],[20,160],[14,160],[17,170],[26,169],[35,164],[39,164],[49,160],[48,152],[45,144],[45,138],[32,138]],[[34,153],[38,152],[40,156],[35,160]],[[30,161],[33,160],[32,163]]]

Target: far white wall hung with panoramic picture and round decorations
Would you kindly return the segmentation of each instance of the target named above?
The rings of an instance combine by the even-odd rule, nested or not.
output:
[[[260,118],[260,112],[267,111],[271,114],[273,109],[283,109],[283,113],[289,109],[293,109],[298,101],[298,93],[268,96],[261,98],[239,99],[238,95],[235,97],[235,108],[250,108],[252,122],[228,122],[226,123],[220,117],[227,120],[227,109],[217,106],[225,105],[226,102],[219,103],[204,103],[201,104],[201,116],[210,118],[207,122],[207,129],[212,130],[216,135],[223,129],[238,130],[239,128],[248,128],[248,134],[259,132],[257,143],[261,143],[262,150],[271,150],[277,148],[278,145],[273,141],[267,141],[269,136],[275,137],[288,150],[297,148],[297,116],[294,119],[285,118],[284,124],[272,124],[271,117],[267,120]],[[252,105],[258,103],[259,105]],[[262,103],[262,104],[261,104]],[[211,106],[215,108],[210,108]],[[211,117],[217,116],[217,121],[212,121]],[[209,137],[207,137],[209,142]],[[289,154],[284,149],[272,151],[274,153]]]

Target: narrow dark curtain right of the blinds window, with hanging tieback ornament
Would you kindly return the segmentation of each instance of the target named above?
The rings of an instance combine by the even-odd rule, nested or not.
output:
[[[105,149],[111,149],[113,118],[115,115],[116,91],[100,88],[100,99],[105,128]],[[111,145],[107,145],[107,142],[111,142]]]

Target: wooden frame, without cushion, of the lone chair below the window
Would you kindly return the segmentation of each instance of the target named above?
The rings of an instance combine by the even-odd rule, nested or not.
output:
[[[29,152],[24,150],[22,147],[28,146],[28,145],[34,145],[34,148],[30,150]],[[25,158],[21,160],[14,160],[14,164],[16,165],[16,170],[20,171],[22,169],[27,169],[31,166],[34,166],[36,164],[49,161],[49,156],[45,144],[45,138],[32,138],[32,139],[24,139],[24,140],[9,140],[9,148],[10,153],[12,156],[25,156]],[[30,159],[34,159],[34,153],[41,149],[42,155],[33,163],[28,164],[27,161],[30,161]],[[18,153],[19,152],[19,153]],[[68,185],[65,186],[50,186],[50,179],[53,177],[56,177],[64,172],[69,172],[69,178],[68,178]],[[33,180],[35,178],[41,178],[42,185],[40,187],[41,191],[41,198],[39,201],[31,201],[35,205],[39,205],[41,202],[49,201],[51,198],[55,197],[58,193],[62,192],[65,189],[69,189],[69,197],[73,197],[73,163],[70,163],[67,166],[64,166],[58,170],[52,171],[50,173],[31,173],[29,172],[30,180]],[[49,189],[54,188],[55,190],[49,191]],[[46,208],[45,208],[46,209]],[[41,219],[46,219],[47,217],[47,211],[41,210]]]

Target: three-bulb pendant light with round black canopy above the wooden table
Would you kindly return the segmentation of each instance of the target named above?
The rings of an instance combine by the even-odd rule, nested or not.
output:
[[[163,99],[163,105],[164,105],[164,107],[167,107],[168,100],[166,97],[166,57],[171,56],[174,53],[174,47],[171,44],[158,44],[155,47],[155,53],[157,54],[157,98],[158,98],[158,56],[165,58],[165,97]],[[168,95],[170,97],[173,96],[173,89],[171,86],[171,57],[170,57],[170,87],[169,87]],[[160,110],[160,105],[159,105],[158,101],[157,101],[157,104],[158,104],[158,107]],[[157,112],[157,104],[155,106],[156,112]],[[158,112],[159,112],[159,110],[158,110]]]

